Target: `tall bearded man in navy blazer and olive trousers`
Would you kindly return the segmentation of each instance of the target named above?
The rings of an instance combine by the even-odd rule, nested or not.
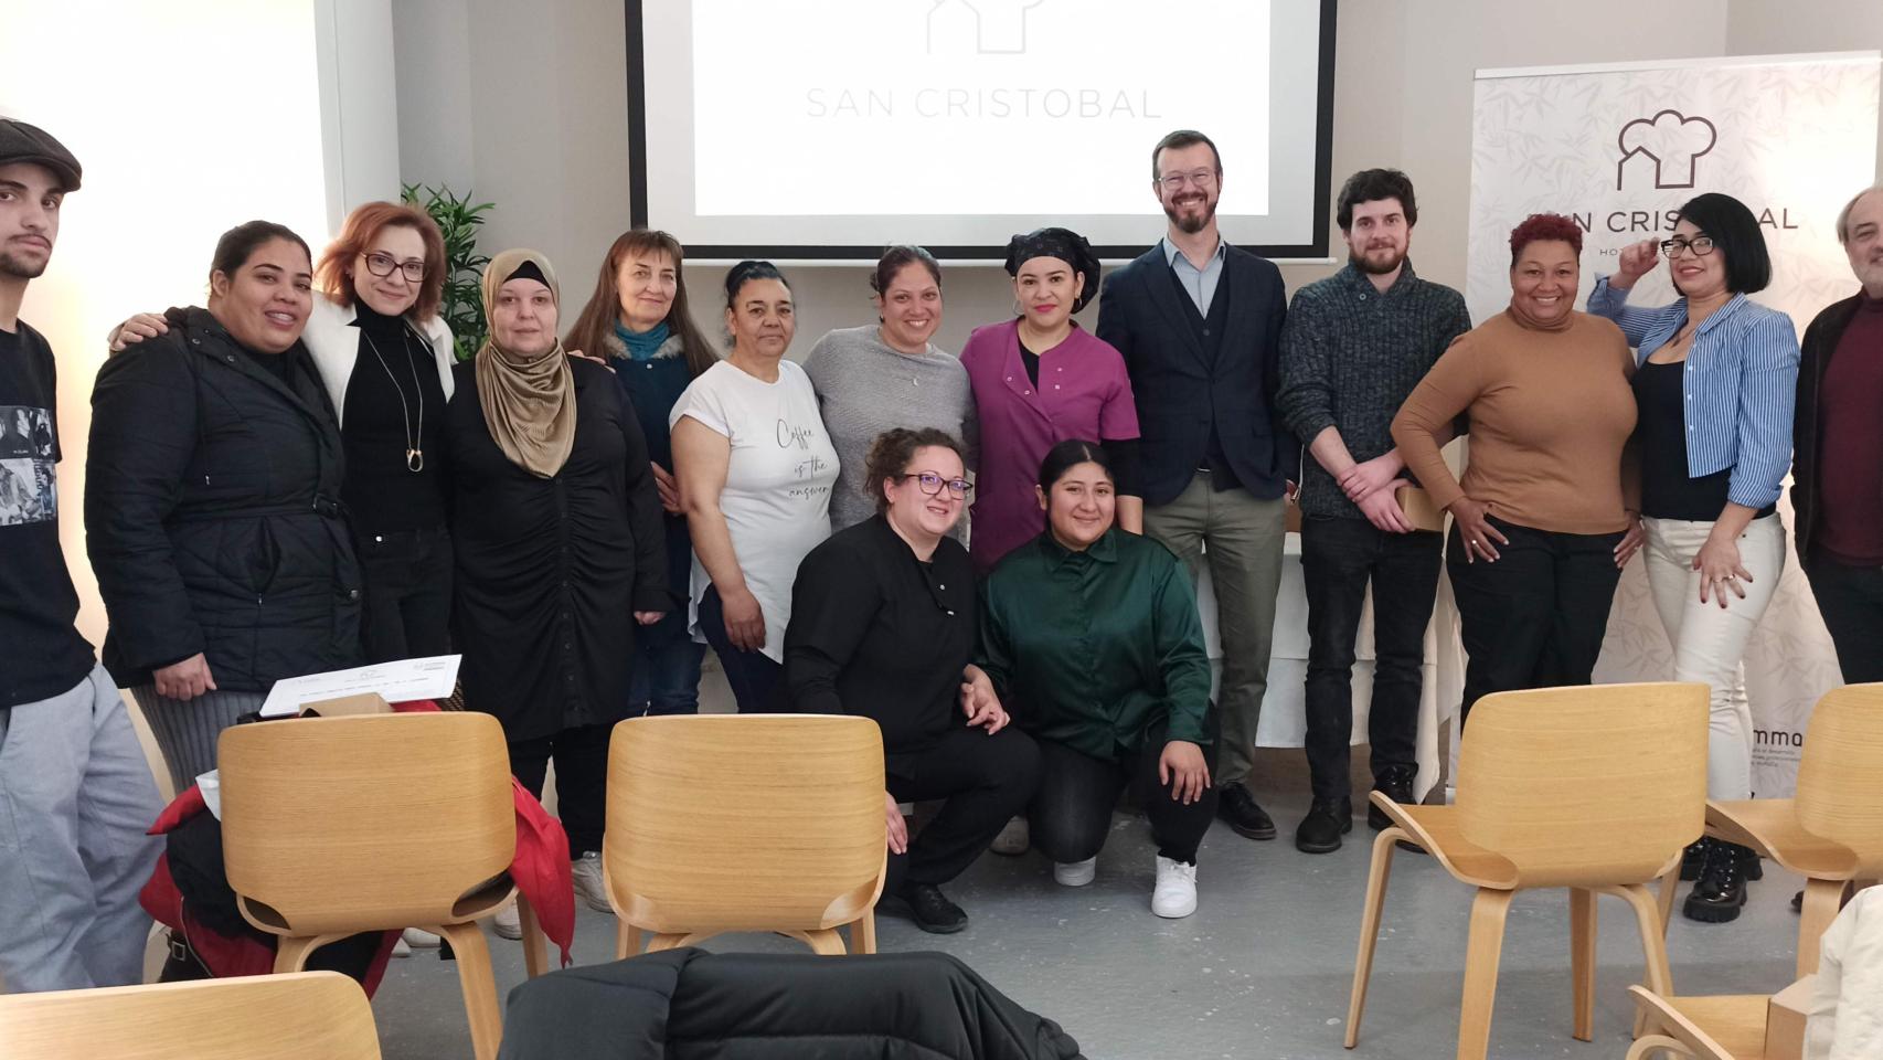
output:
[[[1098,337],[1124,354],[1137,397],[1145,533],[1192,574],[1207,563],[1216,591],[1218,813],[1241,836],[1273,840],[1275,821],[1247,781],[1269,683],[1286,495],[1301,465],[1301,444],[1275,410],[1288,296],[1273,262],[1216,232],[1222,158],[1207,136],[1160,139],[1151,188],[1169,228],[1105,281]]]

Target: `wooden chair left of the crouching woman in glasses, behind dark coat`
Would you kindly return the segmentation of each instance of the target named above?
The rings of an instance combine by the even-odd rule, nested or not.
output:
[[[876,953],[889,836],[883,734],[868,717],[631,717],[608,747],[603,874],[616,955],[778,932]]]

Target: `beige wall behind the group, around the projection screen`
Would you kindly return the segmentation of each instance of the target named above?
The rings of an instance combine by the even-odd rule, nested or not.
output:
[[[621,6],[550,0],[523,11],[499,0],[401,0],[394,17],[403,177],[475,186],[497,201],[488,245],[550,254],[572,318],[603,250],[627,226]],[[1422,275],[1461,284],[1474,70],[1877,47],[1879,21],[1883,4],[1874,0],[1589,0],[1559,9],[1346,0],[1335,43],[1333,185],[1367,166],[1407,169],[1424,218],[1414,262]],[[1842,24],[1872,26],[1870,40],[1845,36]],[[659,105],[659,87],[650,96]],[[1226,168],[1233,179],[1235,160]],[[1147,218],[1145,243],[1158,235]],[[1286,265],[1282,275],[1296,288],[1331,269]],[[870,320],[864,269],[787,273],[800,307],[798,354],[829,328]],[[687,269],[697,307],[717,305],[721,275]],[[990,265],[953,267],[945,288],[940,343],[955,350],[1011,303],[1006,273]],[[1086,309],[1086,322],[1094,314]],[[708,324],[717,328],[717,318]]]

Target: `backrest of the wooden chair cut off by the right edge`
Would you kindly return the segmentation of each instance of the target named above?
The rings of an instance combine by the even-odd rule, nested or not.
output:
[[[1793,806],[1798,825],[1883,875],[1883,685],[1843,685],[1817,700],[1804,732]]]

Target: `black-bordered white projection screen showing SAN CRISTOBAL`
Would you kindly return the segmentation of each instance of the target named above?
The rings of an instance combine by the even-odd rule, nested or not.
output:
[[[1326,252],[1324,0],[629,0],[627,13],[636,220],[695,252],[987,256],[1066,224],[1119,256],[1158,235],[1151,147],[1177,128],[1222,151],[1231,241]]]

